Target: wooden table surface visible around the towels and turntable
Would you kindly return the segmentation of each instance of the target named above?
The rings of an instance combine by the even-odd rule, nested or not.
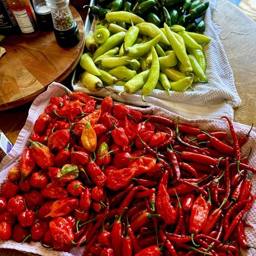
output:
[[[231,33],[222,40],[231,68],[234,71],[237,91],[242,99],[241,107],[235,109],[235,121],[251,125],[256,121],[256,86],[255,51],[256,24],[245,16],[235,5],[227,0],[219,1],[214,21],[222,30],[221,37],[225,38],[230,31],[248,33],[239,35]],[[15,142],[19,131],[25,124],[30,103],[25,106],[0,112],[0,129],[11,142]],[[10,120],[10,121],[7,121]],[[25,256],[26,254],[0,249],[0,256]]]

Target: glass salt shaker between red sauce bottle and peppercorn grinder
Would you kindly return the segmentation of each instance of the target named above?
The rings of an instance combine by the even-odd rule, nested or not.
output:
[[[53,29],[52,14],[45,0],[32,0],[37,22],[41,30],[51,31]]]

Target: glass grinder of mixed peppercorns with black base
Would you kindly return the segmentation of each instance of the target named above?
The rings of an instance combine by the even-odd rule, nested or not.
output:
[[[69,0],[45,0],[51,8],[53,31],[61,47],[75,46],[80,42],[77,23],[69,9]]]

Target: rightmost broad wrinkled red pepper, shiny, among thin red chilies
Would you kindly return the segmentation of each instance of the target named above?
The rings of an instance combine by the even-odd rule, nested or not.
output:
[[[202,194],[200,194],[193,203],[189,219],[189,232],[191,233],[192,241],[194,235],[197,235],[205,226],[208,213],[209,210],[205,199],[202,197]]]

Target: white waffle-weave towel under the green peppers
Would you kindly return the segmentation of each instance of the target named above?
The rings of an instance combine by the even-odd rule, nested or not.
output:
[[[208,78],[208,83],[195,84],[194,91],[171,91],[171,97],[165,91],[155,89],[150,94],[150,97],[146,97],[146,103],[141,100],[141,91],[133,94],[123,93],[122,97],[112,94],[113,98],[134,106],[159,106],[189,119],[219,118],[223,114],[233,119],[233,108],[241,104],[241,99],[237,94],[233,71],[220,41],[221,28],[212,21],[216,6],[217,0],[211,0],[204,18],[204,34],[212,38],[210,44],[204,47],[206,58],[205,74]],[[73,81],[73,89],[74,91],[82,91],[99,96],[109,94],[106,89],[101,89],[97,93],[90,92],[83,86],[81,81],[75,81],[75,79]],[[123,91],[122,86],[108,86],[108,89],[117,93]]]

